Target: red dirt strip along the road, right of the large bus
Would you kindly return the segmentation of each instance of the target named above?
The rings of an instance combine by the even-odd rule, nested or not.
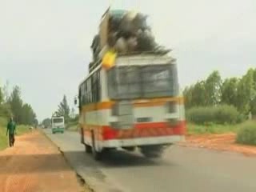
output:
[[[186,136],[181,146],[194,146],[211,150],[232,151],[246,156],[256,156],[256,146],[235,143],[236,134],[203,134]]]

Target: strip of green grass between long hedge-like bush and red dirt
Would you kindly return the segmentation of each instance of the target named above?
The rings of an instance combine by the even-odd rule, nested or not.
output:
[[[226,124],[219,125],[214,123],[208,123],[208,125],[196,125],[193,123],[187,124],[188,134],[226,134],[226,133],[237,133],[246,122],[241,124]]]

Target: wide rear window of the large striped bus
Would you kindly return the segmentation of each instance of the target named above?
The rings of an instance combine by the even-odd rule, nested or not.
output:
[[[107,72],[111,99],[158,98],[178,95],[174,64],[115,66]]]

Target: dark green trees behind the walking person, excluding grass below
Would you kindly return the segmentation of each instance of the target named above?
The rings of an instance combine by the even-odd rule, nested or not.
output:
[[[22,101],[22,92],[19,86],[14,86],[8,94],[8,84],[0,86],[0,117],[13,117],[18,124],[37,126],[37,116],[30,104]]]

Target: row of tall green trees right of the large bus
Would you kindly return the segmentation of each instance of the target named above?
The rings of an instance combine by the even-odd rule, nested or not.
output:
[[[222,79],[218,70],[183,91],[186,109],[200,106],[234,106],[241,114],[256,115],[256,68],[242,78]]]

